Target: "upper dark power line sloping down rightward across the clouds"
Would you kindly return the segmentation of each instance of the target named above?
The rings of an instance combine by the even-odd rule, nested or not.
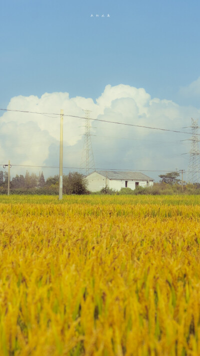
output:
[[[56,114],[56,113],[39,113],[39,112],[25,111],[25,110],[11,110],[11,109],[0,109],[0,110],[1,110],[1,111],[19,112],[19,113],[28,113],[28,114],[38,114],[38,115],[60,115],[60,114]],[[68,115],[68,114],[64,114],[63,116],[72,117],[72,118],[77,118],[77,119],[86,119],[85,117],[82,117],[82,116],[75,116],[75,115]],[[150,126],[134,125],[134,124],[127,124],[127,123],[117,122],[117,121],[108,121],[108,120],[92,119],[92,118],[89,118],[89,120],[99,121],[99,122],[106,122],[106,123],[109,123],[109,124],[132,126],[132,127],[141,127],[141,128],[150,129],[150,130],[160,130],[160,131],[176,132],[176,133],[191,135],[190,132],[184,132],[184,131],[178,131],[178,130],[169,130],[169,129],[162,129],[162,128],[159,128],[159,127],[150,127]],[[200,136],[200,134],[197,134],[197,135]]]

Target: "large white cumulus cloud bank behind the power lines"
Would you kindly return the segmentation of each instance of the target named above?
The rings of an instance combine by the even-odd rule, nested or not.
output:
[[[198,79],[200,84],[200,78]],[[197,81],[196,81],[197,82]],[[191,91],[194,90],[192,89]],[[199,85],[200,91],[200,85]],[[54,166],[59,162],[59,114],[84,116],[90,110],[93,119],[182,131],[199,110],[179,106],[169,100],[151,98],[143,88],[107,85],[94,102],[91,98],[70,98],[69,93],[44,93],[11,98],[7,109],[45,115],[5,112],[0,118],[0,164]],[[96,168],[116,169],[186,169],[188,135],[145,128],[91,121],[91,139]],[[64,166],[79,167],[83,147],[84,120],[64,117]],[[12,174],[20,173],[15,168]],[[47,172],[47,171],[45,171]],[[44,174],[45,174],[44,172]],[[48,171],[46,175],[56,174]],[[153,175],[153,174],[149,174]],[[155,176],[154,176],[155,177]]]

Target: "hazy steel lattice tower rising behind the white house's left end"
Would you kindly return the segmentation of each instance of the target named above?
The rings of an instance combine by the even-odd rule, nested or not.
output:
[[[93,151],[91,146],[91,136],[90,136],[90,119],[89,119],[89,110],[84,110],[85,112],[85,131],[84,131],[84,143],[82,151],[82,159],[80,170],[86,176],[95,170]]]

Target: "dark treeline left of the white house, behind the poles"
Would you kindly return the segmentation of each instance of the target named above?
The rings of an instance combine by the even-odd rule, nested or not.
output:
[[[7,194],[8,174],[0,171],[0,194]],[[63,175],[62,179],[64,194],[86,194],[87,181],[85,177],[73,172]],[[37,176],[35,173],[29,174],[26,171],[25,176],[16,174],[10,180],[10,194],[58,194],[59,176],[48,177],[45,181],[43,172]]]

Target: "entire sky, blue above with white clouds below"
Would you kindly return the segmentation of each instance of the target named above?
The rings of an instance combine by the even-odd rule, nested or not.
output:
[[[88,109],[92,119],[186,131],[91,121],[96,168],[142,170],[155,181],[186,171],[191,129],[183,128],[200,117],[199,11],[197,0],[0,0],[0,108]],[[80,167],[84,120],[64,117],[63,130],[63,164]],[[8,159],[12,176],[26,165],[57,167],[59,116],[0,111],[0,164]]]

